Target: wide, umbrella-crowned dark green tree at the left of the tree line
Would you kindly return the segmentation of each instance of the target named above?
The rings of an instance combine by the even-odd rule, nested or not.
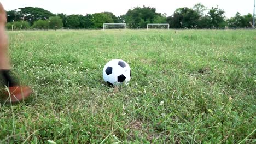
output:
[[[46,20],[49,19],[51,16],[54,16],[53,13],[42,8],[25,7],[19,9],[20,15],[25,15],[25,20],[30,22],[31,25],[37,20]]]

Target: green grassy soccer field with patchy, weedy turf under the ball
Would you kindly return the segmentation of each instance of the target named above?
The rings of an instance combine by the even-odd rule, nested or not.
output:
[[[8,32],[34,94],[0,104],[0,143],[255,143],[256,31]],[[111,59],[127,86],[106,85]]]

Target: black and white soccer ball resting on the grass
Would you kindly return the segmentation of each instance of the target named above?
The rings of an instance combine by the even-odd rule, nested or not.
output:
[[[103,79],[110,85],[120,85],[131,80],[131,68],[121,59],[109,61],[103,68]]]

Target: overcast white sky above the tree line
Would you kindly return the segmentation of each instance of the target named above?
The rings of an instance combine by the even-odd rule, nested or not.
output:
[[[193,7],[202,3],[208,9],[216,7],[224,9],[226,17],[234,17],[239,11],[242,15],[253,14],[254,0],[0,0],[6,10],[13,10],[23,7],[40,7],[52,13],[71,14],[93,14],[103,11],[112,12],[116,16],[125,14],[134,7],[156,8],[157,12],[173,14],[174,10],[181,7]]]

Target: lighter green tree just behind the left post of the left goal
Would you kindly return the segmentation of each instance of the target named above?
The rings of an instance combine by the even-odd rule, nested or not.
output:
[[[96,28],[103,28],[103,23],[114,23],[113,18],[105,13],[96,13],[92,14],[92,16],[94,17]]]

